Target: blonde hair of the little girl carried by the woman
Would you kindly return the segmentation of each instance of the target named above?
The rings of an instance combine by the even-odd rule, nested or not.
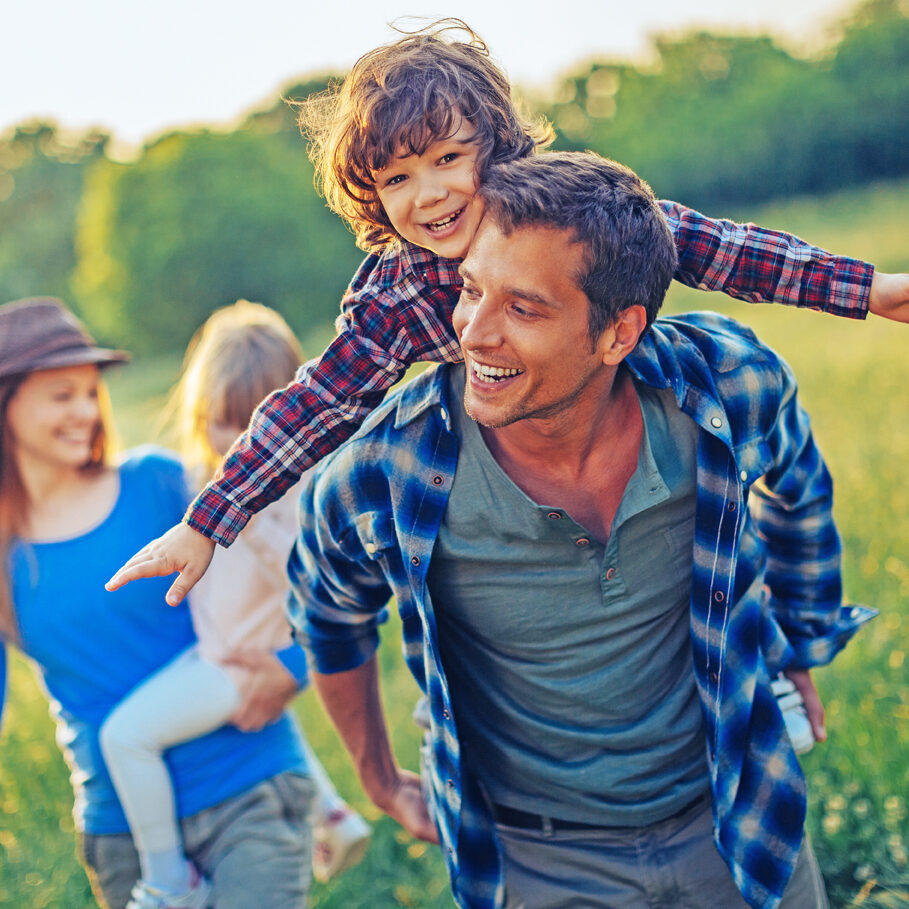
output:
[[[221,463],[209,441],[211,423],[245,427],[302,362],[299,341],[273,309],[238,300],[212,313],[189,342],[167,410],[187,467],[207,480]]]

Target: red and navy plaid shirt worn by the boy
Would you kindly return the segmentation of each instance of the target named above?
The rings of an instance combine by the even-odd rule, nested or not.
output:
[[[683,284],[752,303],[867,315],[872,266],[790,234],[660,204]],[[341,303],[338,336],[294,382],[262,402],[218,477],[187,511],[190,527],[230,545],[253,514],[356,431],[408,366],[460,362],[451,326],[461,291],[458,264],[403,242],[368,256]]]

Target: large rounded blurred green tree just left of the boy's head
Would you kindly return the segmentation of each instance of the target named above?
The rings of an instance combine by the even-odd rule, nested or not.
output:
[[[74,284],[105,337],[179,349],[239,297],[273,306],[299,332],[337,314],[362,254],[316,195],[303,142],[274,120],[173,133],[134,163],[93,171]]]

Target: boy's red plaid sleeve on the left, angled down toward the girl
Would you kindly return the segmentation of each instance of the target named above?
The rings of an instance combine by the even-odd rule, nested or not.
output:
[[[351,436],[419,361],[457,362],[457,263],[368,257],[342,302],[338,335],[269,395],[184,520],[229,546],[249,518]]]

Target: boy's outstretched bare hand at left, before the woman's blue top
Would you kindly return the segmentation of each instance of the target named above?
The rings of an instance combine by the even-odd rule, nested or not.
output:
[[[171,527],[164,536],[140,549],[104,586],[117,590],[137,578],[155,578],[180,572],[165,599],[177,606],[193,585],[205,574],[215,551],[208,537],[188,524]]]

